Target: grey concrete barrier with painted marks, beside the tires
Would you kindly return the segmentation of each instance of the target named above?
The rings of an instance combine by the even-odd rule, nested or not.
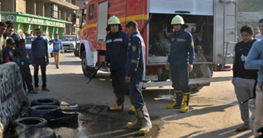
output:
[[[0,137],[8,123],[17,117],[23,103],[28,103],[22,77],[16,63],[0,65]]]

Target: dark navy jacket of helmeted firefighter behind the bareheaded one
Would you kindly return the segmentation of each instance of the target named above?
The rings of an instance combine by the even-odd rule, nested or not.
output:
[[[129,43],[129,36],[122,31],[116,34],[107,34],[106,36],[106,49],[107,55],[105,61],[110,63],[110,70],[125,70],[127,46]]]

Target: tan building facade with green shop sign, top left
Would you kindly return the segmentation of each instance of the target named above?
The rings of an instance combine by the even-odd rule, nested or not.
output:
[[[40,28],[49,37],[72,34],[76,0],[0,0],[1,21],[12,21],[17,32]]]

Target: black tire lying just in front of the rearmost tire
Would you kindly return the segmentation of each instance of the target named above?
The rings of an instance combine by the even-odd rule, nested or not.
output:
[[[29,110],[29,115],[31,117],[45,117],[46,114],[51,112],[61,112],[60,106],[53,106],[53,105],[32,106]]]

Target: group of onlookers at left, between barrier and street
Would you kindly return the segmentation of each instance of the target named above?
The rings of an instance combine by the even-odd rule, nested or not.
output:
[[[44,32],[39,28],[35,29],[35,40],[32,43],[31,50],[26,49],[26,37],[33,36],[33,31],[26,30],[26,33],[15,32],[12,22],[0,22],[0,63],[15,62],[19,66],[21,76],[23,78],[24,89],[28,93],[37,93],[38,72],[39,66],[42,73],[42,90],[50,91],[46,88],[46,66],[49,64],[48,60],[48,45],[53,43],[53,53],[55,55],[56,67],[59,66],[59,53],[64,53],[62,41],[58,34],[55,34],[55,39],[46,41],[42,38]],[[30,72],[30,65],[34,67],[34,83]]]

